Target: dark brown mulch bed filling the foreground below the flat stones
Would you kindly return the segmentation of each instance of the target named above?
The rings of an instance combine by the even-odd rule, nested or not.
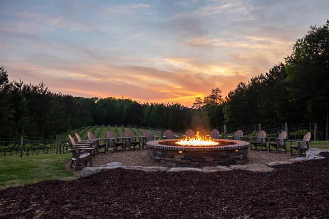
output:
[[[329,218],[326,159],[270,173],[108,170],[0,191],[0,218]]]

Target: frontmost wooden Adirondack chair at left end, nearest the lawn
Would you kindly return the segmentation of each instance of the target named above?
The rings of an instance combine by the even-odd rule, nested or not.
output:
[[[92,143],[75,143],[74,139],[69,135],[67,139],[69,145],[69,151],[72,152],[72,158],[70,167],[75,170],[82,169],[84,167],[93,166],[93,156],[91,151],[95,148],[92,147]]]

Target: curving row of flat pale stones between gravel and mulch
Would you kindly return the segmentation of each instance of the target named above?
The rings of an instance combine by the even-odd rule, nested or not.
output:
[[[202,168],[192,168],[192,167],[162,167],[162,166],[125,166],[118,162],[111,162],[99,167],[86,167],[80,172],[80,177],[89,177],[93,174],[98,172],[105,171],[107,169],[133,169],[133,170],[142,170],[146,172],[179,172],[179,171],[198,171],[198,172],[216,172],[216,171],[231,171],[234,169],[242,169],[242,170],[249,170],[254,172],[271,172],[275,170],[272,168],[273,166],[277,165],[285,165],[285,164],[293,164],[293,163],[300,163],[303,161],[308,160],[323,160],[325,159],[323,156],[320,155],[322,152],[329,152],[329,150],[325,149],[309,149],[306,151],[306,157],[297,157],[294,159],[290,159],[290,162],[286,161],[274,161],[270,162],[267,165],[261,163],[252,163],[246,165],[231,165],[227,166],[205,166]]]

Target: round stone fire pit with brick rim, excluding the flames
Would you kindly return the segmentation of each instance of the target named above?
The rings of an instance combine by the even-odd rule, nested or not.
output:
[[[235,142],[228,146],[181,147],[161,145],[163,141],[147,142],[148,158],[151,161],[173,167],[203,167],[217,165],[245,164],[248,162],[248,142],[236,140],[220,140]]]

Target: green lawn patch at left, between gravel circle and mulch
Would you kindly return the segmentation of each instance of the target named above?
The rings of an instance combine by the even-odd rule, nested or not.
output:
[[[44,180],[73,180],[77,177],[65,169],[71,154],[43,154],[0,157],[0,189]]]

